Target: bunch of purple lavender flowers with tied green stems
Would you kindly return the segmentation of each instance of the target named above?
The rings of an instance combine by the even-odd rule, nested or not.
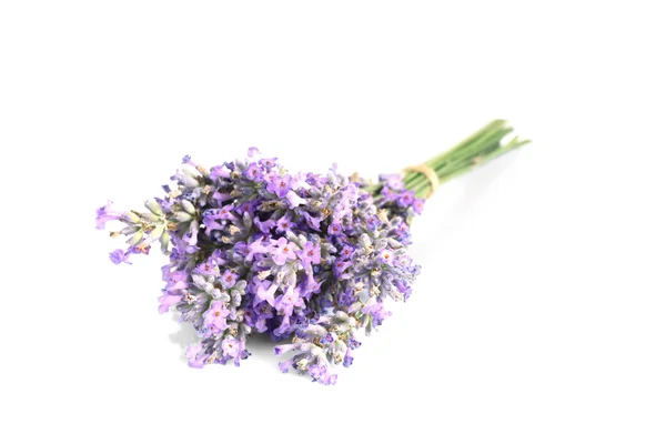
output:
[[[97,211],[97,228],[124,224],[111,236],[128,248],[115,264],[148,254],[159,242],[169,258],[159,311],[171,307],[201,341],[188,347],[192,367],[239,365],[248,339],[275,342],[279,364],[334,384],[337,364],[350,366],[361,345],[391,315],[386,300],[406,301],[420,272],[407,254],[410,222],[444,181],[514,150],[513,130],[491,122],[452,150],[400,174],[371,182],[357,174],[290,174],[276,159],[250,148],[248,159],[210,170],[183,159],[164,195],[148,211]],[[285,343],[290,340],[290,343]]]

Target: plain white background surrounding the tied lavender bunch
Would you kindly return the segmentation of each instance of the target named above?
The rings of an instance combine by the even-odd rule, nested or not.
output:
[[[189,3],[0,6],[1,442],[666,442],[658,1]],[[94,230],[183,154],[374,175],[495,118],[534,143],[427,203],[333,387],[188,367],[163,259]]]

